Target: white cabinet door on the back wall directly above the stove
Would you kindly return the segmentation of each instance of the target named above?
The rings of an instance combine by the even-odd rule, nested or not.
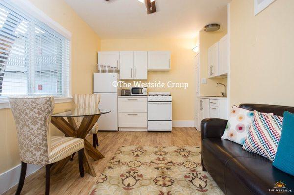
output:
[[[148,51],[148,70],[170,70],[171,52]]]

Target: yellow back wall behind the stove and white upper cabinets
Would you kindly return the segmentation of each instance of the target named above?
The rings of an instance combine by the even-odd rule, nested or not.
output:
[[[101,51],[171,51],[171,70],[148,72],[147,81],[189,83],[182,88],[148,88],[148,91],[170,91],[172,93],[173,120],[193,120],[193,57],[195,39],[111,39],[101,40]],[[146,81],[145,81],[146,82]]]

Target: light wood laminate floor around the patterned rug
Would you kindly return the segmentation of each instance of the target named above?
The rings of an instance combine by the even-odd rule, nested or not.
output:
[[[88,136],[89,141],[92,135]],[[93,161],[93,167],[97,176],[103,171],[114,152],[120,146],[141,145],[141,146],[200,146],[201,135],[195,128],[173,128],[172,132],[98,132],[98,150],[105,155],[105,158]],[[91,141],[92,143],[92,141]],[[50,195],[88,195],[94,185],[96,178],[85,174],[81,178],[78,171],[78,158],[75,155],[72,162],[69,162],[64,170],[51,176]],[[14,195],[17,185],[11,188],[4,195]],[[25,179],[22,195],[45,194],[45,167],[33,173]]]

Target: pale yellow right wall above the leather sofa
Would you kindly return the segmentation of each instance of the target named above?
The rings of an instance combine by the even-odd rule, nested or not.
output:
[[[294,0],[254,16],[253,0],[230,3],[230,105],[294,106]]]

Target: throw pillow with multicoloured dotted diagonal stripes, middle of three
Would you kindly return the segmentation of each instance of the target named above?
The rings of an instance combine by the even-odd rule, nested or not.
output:
[[[254,110],[243,149],[274,161],[281,138],[283,117]]]

